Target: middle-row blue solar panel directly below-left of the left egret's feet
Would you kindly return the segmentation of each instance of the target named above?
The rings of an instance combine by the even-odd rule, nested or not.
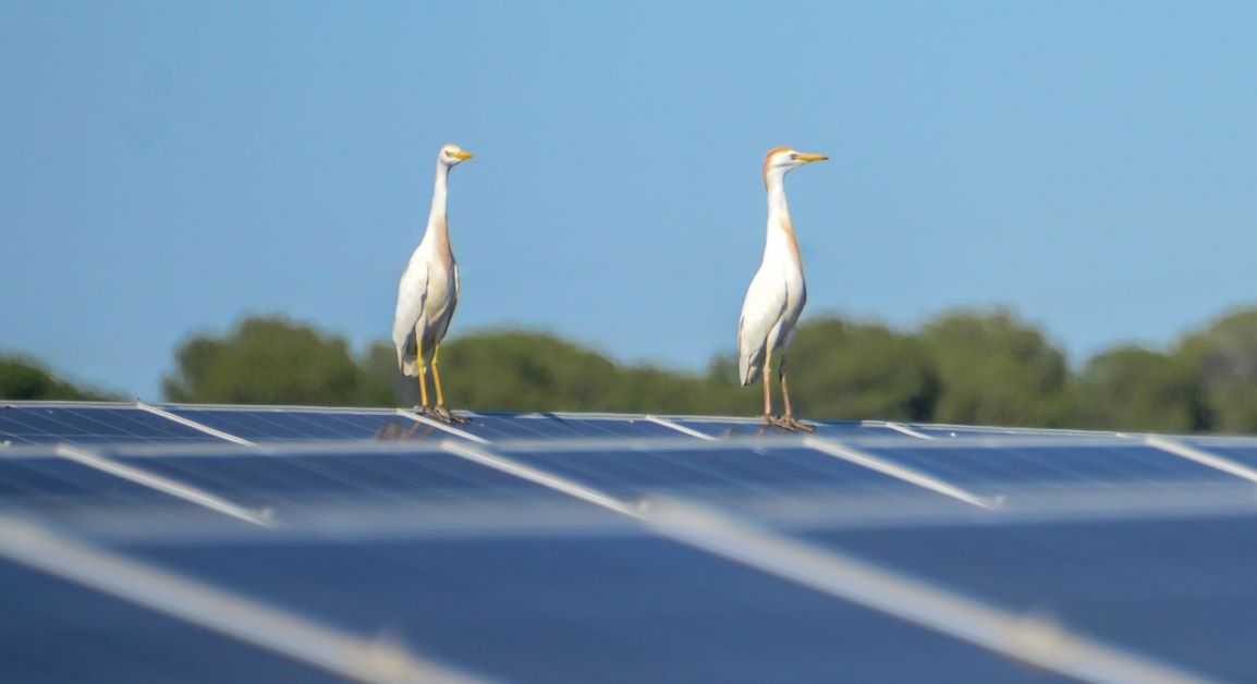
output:
[[[388,504],[422,499],[502,503],[571,500],[566,494],[461,458],[414,454],[118,456],[116,460],[250,507]]]

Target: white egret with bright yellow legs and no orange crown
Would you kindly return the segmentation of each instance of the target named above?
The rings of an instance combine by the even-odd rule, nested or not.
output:
[[[449,225],[445,220],[446,181],[450,168],[471,158],[471,152],[458,145],[445,145],[436,155],[436,184],[432,210],[427,215],[424,239],[410,255],[410,263],[397,285],[397,313],[393,316],[393,345],[397,365],[409,377],[419,378],[420,412],[432,412],[447,422],[466,422],[445,407],[441,375],[437,370],[441,339],[450,327],[459,303],[459,267],[450,250]],[[427,404],[427,368],[432,370],[436,406]]]

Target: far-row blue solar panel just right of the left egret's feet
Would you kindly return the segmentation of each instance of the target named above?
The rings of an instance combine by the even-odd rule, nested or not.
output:
[[[685,434],[646,419],[568,417],[553,414],[476,414],[459,430],[489,441],[561,438],[685,438]]]

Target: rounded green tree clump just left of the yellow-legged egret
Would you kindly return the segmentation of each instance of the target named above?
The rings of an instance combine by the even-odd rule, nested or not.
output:
[[[171,401],[387,406],[388,385],[353,358],[341,337],[283,317],[241,321],[228,336],[202,334],[175,351],[162,381]]]

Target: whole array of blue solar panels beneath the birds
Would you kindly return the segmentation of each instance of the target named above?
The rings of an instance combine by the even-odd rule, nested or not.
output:
[[[15,681],[1252,679],[1257,440],[0,406]]]

